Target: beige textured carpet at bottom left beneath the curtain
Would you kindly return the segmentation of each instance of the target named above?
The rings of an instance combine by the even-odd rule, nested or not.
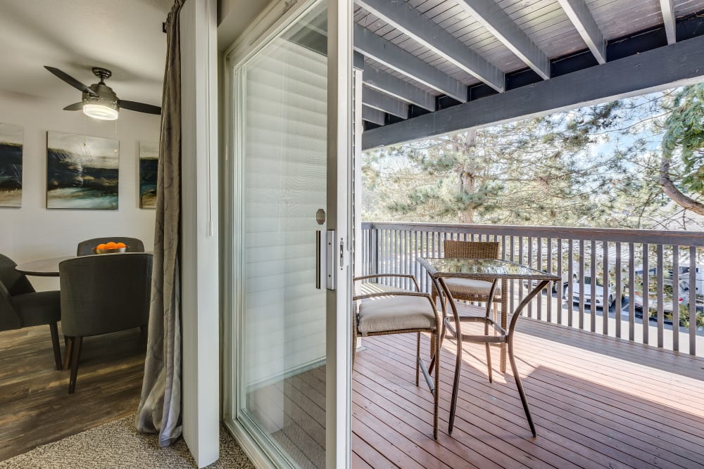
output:
[[[183,439],[167,448],[160,448],[156,435],[144,435],[134,429],[134,416],[120,418],[0,461],[0,469],[195,467],[196,463]],[[253,467],[230,433],[220,425],[220,459],[208,468]]]

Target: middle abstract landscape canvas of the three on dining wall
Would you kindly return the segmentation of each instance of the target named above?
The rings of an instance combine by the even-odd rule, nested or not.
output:
[[[46,208],[118,208],[117,140],[48,131],[46,158]]]

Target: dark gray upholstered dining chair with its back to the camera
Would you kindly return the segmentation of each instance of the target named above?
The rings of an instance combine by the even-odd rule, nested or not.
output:
[[[76,257],[58,264],[61,328],[76,388],[83,338],[149,323],[152,255],[138,252]]]

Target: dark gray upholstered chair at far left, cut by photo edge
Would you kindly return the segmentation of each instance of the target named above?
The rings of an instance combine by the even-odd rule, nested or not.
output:
[[[15,270],[15,262],[0,254],[0,330],[49,325],[54,345],[56,369],[61,370],[58,321],[61,300],[58,291],[35,292],[25,274]]]

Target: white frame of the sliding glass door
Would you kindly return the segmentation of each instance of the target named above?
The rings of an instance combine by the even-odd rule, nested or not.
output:
[[[328,51],[329,56],[331,51],[334,51],[334,57],[339,57],[340,60],[328,61],[328,174],[337,174],[337,181],[341,181],[344,187],[338,186],[337,181],[328,178],[328,214],[327,227],[328,229],[337,230],[337,250],[339,250],[339,242],[342,241],[342,256],[336,256],[336,291],[327,291],[327,332],[326,332],[326,347],[327,347],[327,376],[326,376],[326,463],[330,468],[348,468],[351,465],[351,330],[349,328],[350,308],[350,243],[349,233],[351,228],[348,219],[337,220],[337,214],[348,214],[350,204],[350,188],[348,174],[351,158],[351,89],[352,89],[352,1],[351,0],[324,0],[328,4]],[[235,176],[239,169],[235,167],[237,154],[241,141],[233,141],[232,134],[239,132],[241,129],[241,115],[238,115],[238,110],[234,103],[241,101],[241,96],[238,96],[240,87],[237,86],[238,77],[235,76],[234,70],[246,63],[254,54],[256,54],[265,44],[268,44],[273,38],[277,37],[291,25],[294,18],[304,14],[308,9],[312,8],[318,0],[297,1],[275,1],[265,8],[253,21],[252,25],[244,32],[244,34],[225,51],[224,56],[224,75],[225,75],[225,96],[221,101],[225,103],[226,110],[224,113],[224,129],[223,139],[225,148],[225,164],[223,169],[225,177],[223,178],[222,194],[225,198],[223,206],[225,207],[225,236],[223,243],[223,255],[225,259],[236,259],[241,255],[234,237],[234,217],[229,214],[233,210],[238,210],[237,207],[232,207],[230,201],[237,200],[237,191],[239,186],[234,184]],[[344,31],[337,29],[337,22],[346,25]],[[331,27],[334,25],[334,27]],[[330,86],[330,84],[334,86]],[[346,102],[347,111],[344,115],[339,115],[338,103]],[[236,129],[236,132],[232,132]],[[338,196],[338,194],[343,194]],[[241,214],[240,214],[241,217]],[[347,217],[346,217],[347,218]],[[333,223],[337,221],[337,224]],[[342,234],[340,234],[342,233]],[[260,444],[253,439],[251,434],[242,427],[237,419],[237,366],[239,357],[237,356],[236,348],[234,347],[234,338],[237,337],[236,329],[239,327],[235,323],[231,311],[234,311],[237,302],[237,296],[233,292],[237,292],[239,278],[234,276],[232,271],[232,262],[227,262],[223,271],[223,325],[224,325],[224,344],[223,344],[223,371],[225,373],[223,383],[223,411],[225,414],[225,425],[236,437],[242,449],[247,456],[253,461],[257,467],[265,468],[272,465],[282,465],[284,460],[277,458],[277,455],[265,455],[260,450]],[[337,294],[341,293],[341,294]],[[337,347],[335,346],[337,344]],[[331,359],[332,357],[332,359]],[[344,373],[338,375],[338,370],[344,370]],[[335,412],[329,412],[329,409],[337,409]],[[333,429],[334,431],[329,431]]]

